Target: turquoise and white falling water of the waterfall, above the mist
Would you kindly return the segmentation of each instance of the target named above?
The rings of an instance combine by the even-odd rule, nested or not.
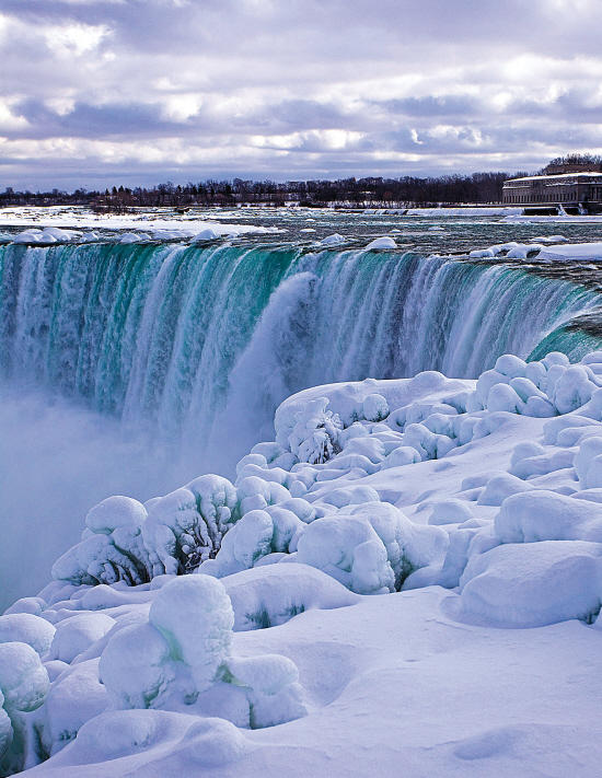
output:
[[[213,469],[269,434],[276,406],[301,388],[421,370],[475,376],[500,353],[528,357],[600,305],[569,281],[398,252],[0,252],[3,381],[42,386],[165,440],[202,440]],[[562,347],[580,356],[581,340],[565,334]],[[219,441],[232,418],[241,440],[224,457]]]

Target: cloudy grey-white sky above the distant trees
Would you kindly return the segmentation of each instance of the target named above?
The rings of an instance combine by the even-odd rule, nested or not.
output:
[[[0,189],[602,153],[601,0],[2,0]]]

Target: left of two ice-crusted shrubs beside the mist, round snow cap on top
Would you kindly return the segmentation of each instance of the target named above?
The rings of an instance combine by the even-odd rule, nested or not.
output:
[[[150,580],[141,535],[146,516],[138,500],[120,496],[103,500],[89,511],[82,542],[53,566],[53,577],[77,585],[116,581],[136,585]]]

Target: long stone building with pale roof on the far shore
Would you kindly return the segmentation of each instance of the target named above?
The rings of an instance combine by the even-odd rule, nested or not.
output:
[[[602,212],[602,164],[588,158],[554,160],[539,175],[503,182],[503,205],[522,205],[532,213],[542,207],[567,213]],[[526,212],[526,211],[525,211]]]

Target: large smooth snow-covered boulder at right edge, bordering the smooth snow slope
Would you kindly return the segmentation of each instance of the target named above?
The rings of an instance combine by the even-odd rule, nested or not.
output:
[[[508,628],[591,623],[600,611],[601,556],[601,544],[579,541],[511,544],[473,556],[460,579],[461,612]]]

